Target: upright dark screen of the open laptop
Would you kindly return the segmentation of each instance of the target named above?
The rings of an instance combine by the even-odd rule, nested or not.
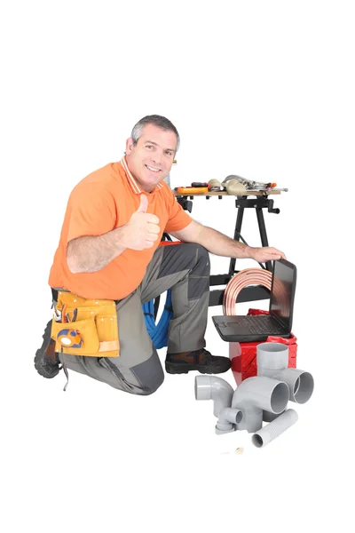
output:
[[[285,259],[274,261],[270,314],[291,331],[296,292],[296,267]]]

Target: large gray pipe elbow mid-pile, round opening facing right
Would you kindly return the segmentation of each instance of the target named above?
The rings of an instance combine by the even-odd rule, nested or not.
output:
[[[279,414],[288,404],[288,386],[267,377],[247,378],[233,394],[232,407],[243,412],[237,429],[255,433],[263,426],[263,410]]]

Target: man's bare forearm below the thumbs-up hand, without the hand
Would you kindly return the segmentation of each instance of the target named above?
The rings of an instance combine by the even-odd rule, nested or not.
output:
[[[98,272],[126,248],[121,245],[124,226],[104,235],[78,237],[67,244],[67,266],[73,274]]]

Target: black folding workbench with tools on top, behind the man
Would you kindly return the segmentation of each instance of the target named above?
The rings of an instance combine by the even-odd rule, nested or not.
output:
[[[193,209],[193,198],[196,196],[205,196],[206,200],[209,200],[209,198],[213,196],[217,196],[220,200],[223,199],[223,196],[231,196],[228,195],[226,191],[209,191],[208,193],[193,193],[191,195],[181,195],[177,193],[177,191],[174,191],[174,194],[177,198],[177,202],[183,207],[185,211],[189,211],[190,213]],[[280,209],[275,209],[273,207],[273,200],[269,198],[269,196],[272,195],[280,195],[280,191],[248,191],[243,195],[234,195],[235,207],[237,209],[237,217],[235,220],[233,238],[236,241],[243,240],[241,238],[241,225],[243,221],[244,210],[255,209],[262,246],[269,246],[266,235],[263,209],[267,209],[269,213],[280,213]],[[225,286],[231,280],[233,275],[239,272],[238,270],[235,270],[235,261],[236,259],[231,258],[229,264],[229,271],[227,274],[210,275],[209,286]],[[264,267],[271,272],[271,261],[267,261]],[[209,290],[209,306],[222,306],[224,293],[225,289]],[[253,287],[245,287],[243,290],[241,290],[238,295],[237,302],[249,302],[269,298],[270,291],[267,290],[265,287],[259,285]]]

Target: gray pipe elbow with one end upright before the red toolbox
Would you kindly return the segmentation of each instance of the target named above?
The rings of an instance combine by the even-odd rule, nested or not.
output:
[[[256,347],[258,376],[280,379],[288,385],[291,402],[305,403],[311,398],[314,380],[309,372],[288,369],[288,346],[278,342],[265,342]]]

